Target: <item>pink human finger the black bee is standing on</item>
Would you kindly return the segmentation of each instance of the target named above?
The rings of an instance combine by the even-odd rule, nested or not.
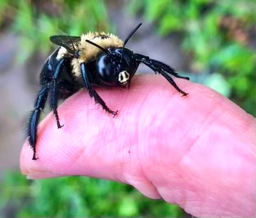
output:
[[[84,175],[133,185],[196,217],[255,217],[255,119],[210,88],[135,76],[130,90],[97,88],[112,118],[88,92],[76,93],[39,125],[37,161],[25,142],[29,179]]]

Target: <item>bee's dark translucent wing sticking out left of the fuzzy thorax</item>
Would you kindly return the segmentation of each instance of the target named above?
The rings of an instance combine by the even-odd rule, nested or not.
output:
[[[58,46],[63,46],[69,53],[74,54],[76,52],[74,43],[81,40],[80,36],[50,36],[50,41]]]

